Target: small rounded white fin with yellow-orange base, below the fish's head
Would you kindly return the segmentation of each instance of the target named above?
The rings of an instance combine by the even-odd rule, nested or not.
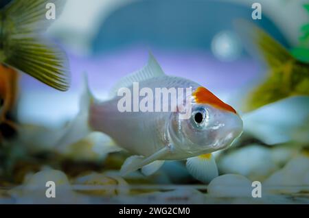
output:
[[[218,177],[218,167],[216,160],[211,154],[204,154],[194,158],[187,159],[187,171],[204,183],[209,183],[214,178]]]

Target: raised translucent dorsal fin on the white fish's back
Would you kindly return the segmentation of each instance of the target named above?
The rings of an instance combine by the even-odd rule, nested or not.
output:
[[[120,88],[130,87],[133,85],[133,82],[141,82],[154,77],[161,77],[163,75],[165,75],[165,73],[161,69],[161,66],[152,55],[152,53],[149,52],[148,64],[144,66],[143,69],[140,69],[139,71],[127,75],[126,77],[123,77],[121,80],[119,80],[119,82],[117,82],[117,84],[115,84],[115,86],[113,86],[111,89],[109,96],[117,96],[117,92]]]

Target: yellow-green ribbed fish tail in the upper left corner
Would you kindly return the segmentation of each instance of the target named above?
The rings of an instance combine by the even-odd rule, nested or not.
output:
[[[42,33],[54,21],[47,17],[49,12],[54,7],[57,18],[64,4],[65,0],[15,0],[0,11],[0,62],[62,91],[69,88],[67,56]]]

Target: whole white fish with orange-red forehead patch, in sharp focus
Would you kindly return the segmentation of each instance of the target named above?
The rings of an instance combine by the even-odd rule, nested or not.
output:
[[[179,110],[119,112],[122,97],[117,91],[126,87],[134,93],[134,82],[139,83],[140,89],[148,88],[153,93],[156,88],[191,87],[192,114],[189,119],[181,119]],[[161,103],[170,104],[171,99]],[[133,100],[131,104],[134,104]],[[153,101],[155,105],[155,99]],[[71,123],[67,138],[76,140],[93,131],[107,134],[117,145],[115,151],[121,148],[134,155],[124,162],[123,175],[141,168],[144,174],[150,175],[163,165],[164,160],[188,159],[190,173],[198,180],[209,182],[218,176],[211,153],[229,147],[242,133],[242,119],[231,106],[195,82],[165,75],[151,54],[143,69],[117,83],[108,101],[95,100],[87,88],[80,107],[80,114]],[[108,151],[111,152],[110,146]]]

